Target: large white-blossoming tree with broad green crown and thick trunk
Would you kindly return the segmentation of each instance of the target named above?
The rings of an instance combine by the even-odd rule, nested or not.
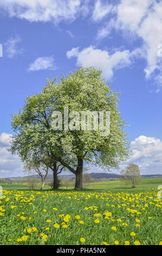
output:
[[[101,78],[101,70],[82,66],[70,75],[47,80],[42,92],[27,96],[18,114],[12,115],[12,138],[10,151],[21,157],[23,162],[35,157],[37,162],[44,161],[54,170],[54,162],[66,167],[76,175],[75,188],[82,188],[83,161],[100,166],[105,170],[118,169],[119,163],[129,156],[129,143],[126,138],[125,120],[118,110],[119,93]],[[52,114],[64,107],[69,112],[109,111],[110,134],[101,136],[98,130],[52,129]],[[69,118],[68,121],[71,119]]]

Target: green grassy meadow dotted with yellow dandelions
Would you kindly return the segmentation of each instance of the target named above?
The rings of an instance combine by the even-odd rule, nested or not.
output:
[[[162,179],[136,188],[96,182],[83,191],[3,186],[0,245],[159,245]]]

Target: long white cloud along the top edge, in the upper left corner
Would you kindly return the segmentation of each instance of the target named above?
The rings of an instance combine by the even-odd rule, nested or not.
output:
[[[62,20],[73,21],[77,14],[86,12],[86,1],[80,0],[0,0],[0,8],[10,17],[17,17],[31,22]]]

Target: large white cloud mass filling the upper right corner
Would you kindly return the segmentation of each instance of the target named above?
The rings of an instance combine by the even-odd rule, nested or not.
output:
[[[109,35],[112,29],[132,34],[142,39],[143,57],[147,60],[144,69],[146,79],[154,78],[162,86],[161,57],[158,56],[158,45],[162,42],[162,2],[157,0],[121,0],[115,9],[113,19],[98,31],[97,39]],[[115,20],[115,22],[114,22]],[[159,90],[158,90],[159,92]]]

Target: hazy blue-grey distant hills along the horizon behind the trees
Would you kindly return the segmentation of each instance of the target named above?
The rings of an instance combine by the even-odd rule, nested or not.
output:
[[[92,176],[93,179],[119,179],[120,178],[120,174],[116,174],[116,173],[90,173],[90,175]],[[60,179],[63,180],[74,180],[75,179],[75,175],[74,174],[69,174],[69,175],[58,175]],[[159,178],[162,177],[162,174],[149,174],[149,175],[142,175],[143,178]],[[32,179],[40,179],[40,176],[35,174],[35,175],[28,175],[28,176],[17,176],[17,177],[9,177],[9,178],[5,178],[8,180],[20,180],[20,179],[27,179],[27,178],[32,178]],[[47,179],[52,180],[53,179],[53,174],[49,174],[47,176]]]

